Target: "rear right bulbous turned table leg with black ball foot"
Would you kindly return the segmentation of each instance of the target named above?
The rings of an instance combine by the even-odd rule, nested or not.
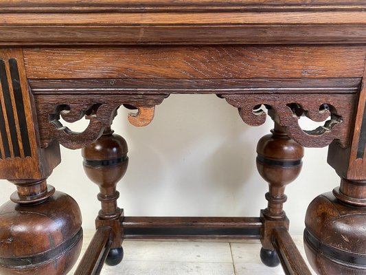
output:
[[[264,265],[275,267],[279,265],[279,259],[271,242],[272,230],[275,227],[288,228],[288,219],[283,210],[287,199],[284,190],[300,173],[304,148],[291,140],[277,123],[271,132],[258,142],[257,168],[269,186],[269,192],[266,193],[268,207],[261,212],[264,230],[260,258]]]

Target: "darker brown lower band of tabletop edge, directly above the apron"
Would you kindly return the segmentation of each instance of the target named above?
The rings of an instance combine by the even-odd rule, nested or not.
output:
[[[340,28],[341,26],[341,28]],[[74,39],[78,37],[78,39]],[[197,45],[366,43],[363,24],[3,25],[0,45]]]

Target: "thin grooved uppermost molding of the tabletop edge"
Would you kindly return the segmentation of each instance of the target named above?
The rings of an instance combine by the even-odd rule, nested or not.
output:
[[[161,10],[361,10],[361,0],[4,0],[2,12],[95,12],[95,11],[161,11]]]

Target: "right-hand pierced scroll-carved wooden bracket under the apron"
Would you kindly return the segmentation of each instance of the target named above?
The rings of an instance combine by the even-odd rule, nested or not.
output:
[[[348,144],[355,94],[231,94],[222,97],[238,108],[242,120],[251,126],[266,121],[263,106],[266,107],[273,120],[286,127],[288,135],[302,146],[323,147],[333,140],[339,140],[342,146]],[[329,116],[330,120],[317,129],[306,131],[299,126],[301,116],[315,122],[322,122]]]

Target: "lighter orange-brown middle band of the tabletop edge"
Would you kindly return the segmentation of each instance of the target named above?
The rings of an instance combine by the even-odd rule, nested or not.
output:
[[[158,12],[141,13],[24,13],[1,14],[0,25],[76,25],[79,28],[96,25],[365,25],[366,12]]]

